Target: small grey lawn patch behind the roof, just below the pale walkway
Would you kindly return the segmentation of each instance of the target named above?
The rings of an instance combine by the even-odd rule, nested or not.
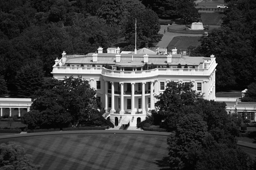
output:
[[[168,44],[168,49],[174,49],[175,47],[177,49],[188,49],[190,45],[192,46],[200,46],[201,43],[198,42],[200,37],[183,37],[178,36],[174,37],[174,39]]]

